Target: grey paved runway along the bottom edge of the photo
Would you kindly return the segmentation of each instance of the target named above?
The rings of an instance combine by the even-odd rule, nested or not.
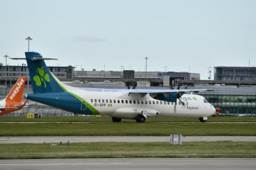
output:
[[[256,158],[100,158],[0,160],[0,169],[255,169]]]

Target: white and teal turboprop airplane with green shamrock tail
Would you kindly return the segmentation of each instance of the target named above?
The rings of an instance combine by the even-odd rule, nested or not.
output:
[[[214,114],[207,100],[193,93],[207,89],[124,89],[120,91],[89,91],[67,86],[45,65],[38,52],[25,52],[33,92],[24,97],[75,114],[101,114],[114,122],[133,119],[143,123],[152,116],[197,117],[205,122]]]

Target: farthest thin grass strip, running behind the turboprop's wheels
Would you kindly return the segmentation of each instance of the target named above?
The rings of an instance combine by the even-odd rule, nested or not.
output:
[[[28,119],[25,116],[0,116],[0,122],[112,122],[109,116],[43,116],[41,119]],[[134,120],[122,120],[134,122]],[[256,117],[221,116],[209,117],[209,122],[256,122]],[[148,118],[147,122],[199,122],[198,118],[157,117]]]

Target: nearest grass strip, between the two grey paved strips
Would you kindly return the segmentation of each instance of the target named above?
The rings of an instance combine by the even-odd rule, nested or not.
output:
[[[255,158],[255,142],[0,144],[0,159],[23,158]]]

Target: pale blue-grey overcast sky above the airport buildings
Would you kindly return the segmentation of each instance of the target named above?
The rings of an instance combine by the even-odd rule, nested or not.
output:
[[[77,70],[200,73],[256,65],[256,1],[0,1],[0,54],[40,52]],[[0,58],[5,64],[5,59]],[[19,63],[18,63],[19,62]],[[22,61],[11,61],[21,65]],[[213,71],[213,70],[212,70]]]

